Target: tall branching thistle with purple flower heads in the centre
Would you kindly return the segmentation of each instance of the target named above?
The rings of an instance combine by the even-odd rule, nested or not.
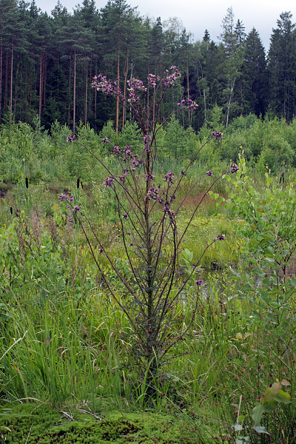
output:
[[[198,275],[198,265],[205,252],[215,243],[223,241],[225,236],[219,234],[206,247],[201,257],[191,265],[186,276],[178,273],[179,255],[182,251],[186,232],[196,212],[202,204],[207,192],[219,181],[224,174],[236,172],[236,165],[231,165],[229,171],[225,171],[219,177],[213,178],[212,171],[207,171],[198,178],[188,190],[186,196],[178,201],[178,190],[188,169],[198,156],[199,151],[210,140],[219,140],[222,133],[212,133],[206,144],[201,147],[189,162],[188,166],[179,176],[168,171],[160,181],[156,181],[154,163],[157,156],[156,134],[161,126],[170,119],[174,112],[182,109],[194,111],[197,107],[192,100],[182,100],[177,104],[177,111],[170,114],[161,124],[158,122],[161,103],[167,91],[174,87],[180,79],[181,73],[176,67],[166,70],[162,77],[149,74],[146,86],[138,78],[129,80],[128,94],[124,96],[118,89],[117,83],[108,80],[105,76],[94,77],[93,87],[111,98],[119,97],[121,103],[130,111],[133,118],[138,122],[143,134],[143,150],[134,152],[131,146],[124,148],[112,145],[104,138],[103,142],[111,144],[111,152],[117,158],[121,168],[121,174],[115,175],[93,154],[89,148],[85,149],[92,154],[97,161],[106,169],[106,187],[112,190],[116,201],[119,217],[121,239],[125,255],[129,263],[130,276],[126,278],[117,267],[116,259],[113,259],[99,239],[88,220],[83,208],[74,205],[67,196],[73,208],[75,217],[79,221],[86,236],[93,258],[102,270],[101,257],[105,257],[118,279],[126,290],[126,297],[117,297],[116,292],[102,272],[102,278],[111,296],[127,316],[134,337],[133,354],[140,368],[149,371],[151,375],[157,374],[161,368],[163,357],[185,336],[194,319],[202,280]],[[152,110],[154,108],[154,113]],[[154,119],[151,117],[154,115]],[[75,136],[69,136],[70,143],[77,143]],[[82,145],[82,144],[80,144]],[[204,196],[193,209],[189,222],[182,232],[178,230],[178,215],[182,209],[186,197],[206,176],[212,178]],[[85,222],[89,224],[86,228]],[[92,232],[92,235],[89,234]],[[92,238],[93,237],[93,238]],[[95,244],[94,244],[95,242]],[[96,248],[95,248],[96,246]],[[194,306],[192,307],[191,320],[186,328],[176,337],[170,336],[170,327],[175,314],[178,312],[178,303],[185,291],[194,292]]]

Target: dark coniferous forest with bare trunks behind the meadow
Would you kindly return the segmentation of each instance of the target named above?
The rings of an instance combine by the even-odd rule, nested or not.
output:
[[[112,119],[117,131],[132,116],[91,87],[94,75],[118,79],[126,91],[129,78],[162,74],[172,65],[182,81],[162,105],[160,121],[181,99],[191,98],[198,110],[179,119],[195,131],[211,120],[215,106],[226,127],[249,113],[289,122],[296,111],[292,14],[280,15],[268,53],[255,28],[246,34],[243,17],[234,20],[232,8],[221,31],[218,43],[207,30],[202,41],[191,41],[181,20],[164,26],[160,17],[143,18],[125,0],[109,0],[101,10],[94,0],[84,0],[73,14],[58,1],[51,16],[35,0],[1,0],[0,122],[32,124],[38,114],[47,129],[57,120],[73,129],[89,122],[99,131]]]

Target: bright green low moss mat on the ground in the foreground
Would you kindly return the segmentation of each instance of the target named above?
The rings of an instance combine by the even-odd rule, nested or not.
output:
[[[0,410],[0,437],[5,444],[187,442],[182,428],[170,419],[156,414],[113,413],[97,420],[76,412],[74,421],[67,422],[66,416],[45,405],[6,405]]]

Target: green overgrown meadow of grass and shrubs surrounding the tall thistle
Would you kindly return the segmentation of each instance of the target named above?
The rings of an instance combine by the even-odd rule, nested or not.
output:
[[[157,359],[139,346],[141,319],[131,324],[138,253],[129,260],[106,171],[79,145],[118,176],[102,139],[140,150],[139,128],[116,138],[110,122],[99,135],[80,125],[67,144],[57,123],[3,125],[0,441],[296,442],[295,122],[238,118],[204,148],[211,128],[181,134],[173,119],[157,133],[154,180],[184,176],[172,208],[176,232],[188,226]]]

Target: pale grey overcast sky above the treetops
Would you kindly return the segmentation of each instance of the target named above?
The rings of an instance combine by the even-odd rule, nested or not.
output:
[[[73,12],[75,5],[82,0],[61,0],[68,12]],[[96,0],[98,9],[104,7],[108,0]],[[178,17],[182,20],[187,32],[193,34],[193,40],[200,40],[208,29],[211,39],[218,41],[221,34],[222,18],[227,8],[232,6],[234,20],[240,19],[246,27],[248,34],[253,27],[259,32],[260,38],[266,49],[269,47],[269,39],[272,28],[277,27],[277,19],[281,12],[291,11],[292,21],[296,22],[295,0],[127,0],[131,6],[138,6],[142,16],[161,17],[162,22],[169,17]],[[55,7],[57,0],[36,0],[36,4],[44,12]]]

